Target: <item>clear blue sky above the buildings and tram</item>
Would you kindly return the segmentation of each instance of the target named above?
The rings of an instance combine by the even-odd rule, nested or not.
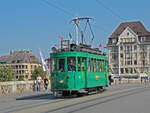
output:
[[[0,0],[0,56],[15,50],[39,56],[40,48],[49,57],[51,47],[60,44],[59,36],[68,39],[74,31],[70,21],[76,16],[93,18],[93,47],[105,46],[122,22],[141,21],[150,31],[149,4],[149,0]]]

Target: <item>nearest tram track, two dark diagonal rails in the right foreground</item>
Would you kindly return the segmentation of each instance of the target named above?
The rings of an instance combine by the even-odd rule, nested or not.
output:
[[[59,112],[60,110],[61,110],[61,112],[63,112],[64,109],[67,109],[67,108],[70,108],[70,109],[72,108],[73,109],[75,106],[79,105],[78,109],[73,109],[72,111],[67,112],[67,113],[74,113],[74,112],[77,112],[77,111],[80,111],[80,110],[83,110],[83,109],[86,109],[86,108],[90,108],[90,107],[93,107],[93,106],[96,106],[96,105],[99,105],[99,104],[103,104],[103,103],[106,103],[106,102],[113,101],[115,99],[120,99],[120,98],[123,98],[123,97],[126,97],[126,96],[130,96],[130,95],[134,95],[134,94],[141,93],[141,92],[144,92],[144,91],[148,91],[148,89],[150,89],[150,88],[148,88],[148,87],[145,87],[145,88],[131,88],[129,90],[122,90],[122,91],[112,92],[112,93],[106,94],[105,96],[101,96],[101,97],[94,98],[94,99],[89,99],[89,100],[86,100],[86,101],[82,101],[82,102],[78,102],[78,103],[75,103],[75,104],[60,107],[60,108],[57,108],[57,109],[48,110],[48,111],[45,111],[44,113],[51,113],[51,112],[56,112],[56,111]],[[109,98],[109,99],[107,99],[107,98]],[[101,101],[101,99],[104,99],[104,100]],[[100,101],[100,102],[95,103],[95,101]],[[84,107],[80,107],[80,105],[84,105],[84,104],[89,104],[89,105],[85,105]]]

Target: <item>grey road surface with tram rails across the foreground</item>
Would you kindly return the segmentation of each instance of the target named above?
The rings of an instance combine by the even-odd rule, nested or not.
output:
[[[0,113],[150,113],[150,85],[124,84],[80,98],[52,95],[0,103]]]

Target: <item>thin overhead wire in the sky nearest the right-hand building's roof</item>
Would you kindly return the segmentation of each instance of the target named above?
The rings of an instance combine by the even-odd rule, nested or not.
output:
[[[101,0],[96,0],[96,2],[101,5],[103,8],[105,8],[106,10],[108,10],[112,15],[116,16],[117,18],[119,18],[120,20],[125,21],[126,19],[121,17],[119,14],[117,14],[116,12],[114,12],[111,8],[109,8],[108,6],[106,6]]]

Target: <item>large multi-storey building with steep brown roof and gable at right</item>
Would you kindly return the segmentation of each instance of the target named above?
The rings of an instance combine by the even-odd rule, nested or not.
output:
[[[138,77],[150,71],[150,32],[141,22],[121,23],[107,47],[111,73]]]

